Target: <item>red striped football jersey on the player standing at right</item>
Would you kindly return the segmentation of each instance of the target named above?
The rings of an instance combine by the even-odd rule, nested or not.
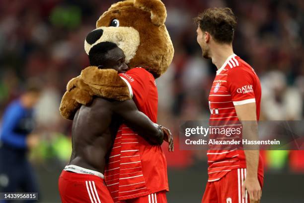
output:
[[[237,123],[238,117],[234,106],[251,102],[256,103],[256,115],[257,120],[259,120],[260,81],[254,70],[233,54],[217,71],[210,91],[211,125],[222,126],[225,123],[231,124],[233,121]],[[220,180],[232,169],[246,168],[245,154],[242,150],[208,150],[207,157],[209,182]],[[258,174],[263,176],[261,156],[259,158]]]

